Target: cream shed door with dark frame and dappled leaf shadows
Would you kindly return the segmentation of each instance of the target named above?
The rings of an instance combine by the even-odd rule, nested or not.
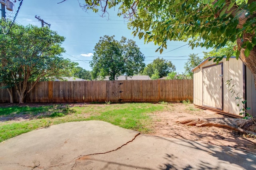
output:
[[[222,110],[222,63],[203,68],[203,106]]]

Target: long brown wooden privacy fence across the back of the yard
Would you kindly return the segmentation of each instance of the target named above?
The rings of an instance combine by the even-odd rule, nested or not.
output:
[[[31,86],[29,83],[28,89]],[[43,81],[30,91],[25,102],[171,102],[188,99],[193,99],[193,80]],[[6,89],[0,89],[0,102],[10,102]],[[14,102],[18,102],[16,92]]]

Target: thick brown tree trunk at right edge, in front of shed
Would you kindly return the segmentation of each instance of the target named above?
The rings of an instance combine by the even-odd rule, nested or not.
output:
[[[250,34],[244,34],[243,40],[250,39],[251,37],[252,35]],[[246,67],[248,67],[248,69],[250,69],[250,71],[252,72],[252,75],[254,77],[254,88],[256,89],[256,46],[254,46],[253,49],[250,51],[250,55],[246,57],[244,55],[245,49],[242,48],[241,45],[242,40],[239,38],[237,40],[238,50],[241,50],[239,57],[243,61],[244,65],[246,65]]]

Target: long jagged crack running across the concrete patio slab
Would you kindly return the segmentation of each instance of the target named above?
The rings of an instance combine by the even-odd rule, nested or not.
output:
[[[42,169],[44,169],[44,170],[47,170],[47,169],[49,169],[49,168],[58,167],[58,166],[64,166],[64,165],[70,164],[71,162],[73,162],[73,161],[75,160],[75,163],[74,163],[73,166],[71,167],[71,170],[72,170],[72,169],[74,168],[74,166],[76,165],[76,161],[79,160],[80,158],[83,158],[83,157],[85,157],[85,156],[97,155],[97,154],[106,154],[106,153],[109,153],[109,152],[116,151],[116,150],[122,148],[123,146],[127,145],[128,143],[132,142],[132,141],[133,141],[137,136],[139,136],[139,135],[140,135],[140,132],[138,132],[138,133],[134,136],[134,138],[132,138],[132,140],[129,140],[128,142],[126,142],[125,144],[123,144],[122,146],[119,146],[118,148],[116,148],[116,149],[114,149],[114,150],[110,150],[110,151],[102,152],[102,153],[94,153],[94,154],[88,154],[88,155],[80,155],[80,156],[78,156],[78,157],[72,159],[70,162],[65,162],[65,163],[62,163],[62,164],[55,165],[55,166],[49,166],[49,167],[47,167],[47,168],[43,168],[43,167],[40,167],[40,166],[38,166],[37,168],[40,168],[40,169],[42,168]]]

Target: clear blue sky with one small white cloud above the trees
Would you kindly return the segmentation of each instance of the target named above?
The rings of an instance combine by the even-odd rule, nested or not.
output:
[[[7,18],[13,19],[20,4],[20,1],[16,1],[13,12],[6,11]],[[184,63],[189,54],[195,53],[202,58],[202,51],[210,51],[205,48],[192,50],[186,45],[186,42],[169,42],[167,49],[160,54],[155,52],[158,46],[154,43],[144,44],[143,39],[140,40],[138,37],[132,36],[132,30],[128,30],[126,20],[117,16],[117,10],[111,10],[109,18],[102,18],[92,11],[84,12],[79,6],[79,2],[84,3],[84,0],[66,0],[57,4],[61,1],[23,0],[16,22],[24,26],[32,24],[41,27],[41,22],[35,18],[35,16],[40,16],[45,22],[51,24],[52,30],[66,38],[62,44],[66,53],[63,53],[62,56],[78,62],[79,66],[86,70],[91,70],[89,62],[92,60],[94,46],[104,35],[114,35],[118,41],[122,36],[134,40],[146,57],[144,63],[151,63],[157,57],[164,58],[172,61],[178,73],[184,72]]]

